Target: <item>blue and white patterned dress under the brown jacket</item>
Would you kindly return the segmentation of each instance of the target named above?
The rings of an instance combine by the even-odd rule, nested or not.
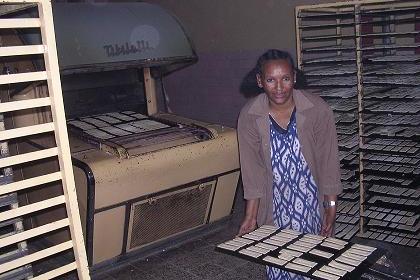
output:
[[[270,142],[274,224],[279,228],[319,234],[318,187],[301,152],[295,110],[287,130],[270,116]],[[307,279],[269,266],[267,277],[270,280]]]

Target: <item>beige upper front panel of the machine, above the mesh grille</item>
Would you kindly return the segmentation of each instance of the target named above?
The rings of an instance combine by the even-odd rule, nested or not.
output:
[[[170,115],[165,117],[170,118]],[[98,150],[78,153],[74,157],[88,164],[95,174],[95,207],[108,207],[133,197],[238,169],[235,130],[221,126],[216,128],[219,135],[215,139],[161,149],[129,159],[120,159]]]

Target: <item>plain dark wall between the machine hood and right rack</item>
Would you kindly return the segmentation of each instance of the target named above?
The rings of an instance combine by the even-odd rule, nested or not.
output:
[[[194,42],[199,61],[165,78],[173,112],[236,126],[247,99],[242,79],[264,50],[295,57],[296,5],[310,0],[149,0],[174,14]]]

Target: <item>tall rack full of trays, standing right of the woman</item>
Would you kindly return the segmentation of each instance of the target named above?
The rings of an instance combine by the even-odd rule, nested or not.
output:
[[[336,115],[338,237],[419,247],[420,3],[298,6],[296,34],[298,67]]]

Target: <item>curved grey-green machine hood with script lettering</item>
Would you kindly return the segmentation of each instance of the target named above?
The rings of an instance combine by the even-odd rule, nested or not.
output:
[[[172,15],[149,3],[54,3],[62,74],[155,67],[163,73],[197,60]]]

